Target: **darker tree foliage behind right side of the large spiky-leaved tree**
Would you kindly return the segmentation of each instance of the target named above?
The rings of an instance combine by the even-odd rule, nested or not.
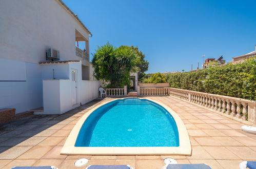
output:
[[[136,67],[138,71],[138,80],[141,81],[142,78],[146,75],[145,72],[148,70],[149,62],[145,60],[145,54],[142,53],[142,51],[139,51],[138,47],[133,47],[133,46],[131,47],[124,46],[124,47],[130,48],[137,54],[138,57],[140,57],[140,61],[137,62]]]

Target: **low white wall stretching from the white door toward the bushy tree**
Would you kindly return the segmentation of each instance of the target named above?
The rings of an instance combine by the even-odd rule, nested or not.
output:
[[[100,81],[82,80],[80,102],[85,104],[99,97]]]

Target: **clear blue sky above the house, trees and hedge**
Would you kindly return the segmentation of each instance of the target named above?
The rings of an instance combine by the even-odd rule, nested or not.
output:
[[[255,0],[63,0],[91,31],[90,52],[107,42],[137,46],[147,73],[190,71],[206,58],[255,50]]]

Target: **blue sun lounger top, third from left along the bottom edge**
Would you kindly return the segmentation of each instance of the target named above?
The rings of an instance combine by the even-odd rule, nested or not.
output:
[[[211,169],[207,164],[166,164],[163,169]]]

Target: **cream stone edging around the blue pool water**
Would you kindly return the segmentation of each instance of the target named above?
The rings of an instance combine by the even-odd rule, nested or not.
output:
[[[169,108],[167,105],[160,103],[158,101],[155,101],[153,99],[143,98],[143,97],[136,97],[136,98],[147,99],[152,102],[155,102],[156,104],[159,104],[163,108],[165,108],[172,115],[172,117],[176,122],[178,132],[179,132],[179,141],[180,141],[179,146],[176,146],[176,147],[174,146],[173,147],[75,147],[74,146],[76,138],[79,134],[79,131],[84,121],[94,110],[114,100],[126,99],[126,98],[129,98],[129,97],[116,98],[116,99],[107,101],[105,103],[97,105],[96,107],[94,107],[93,109],[85,113],[78,120],[78,122],[75,124],[74,128],[70,132],[61,150],[61,155],[187,155],[187,156],[191,155],[192,148],[191,148],[188,132],[185,124],[183,123],[179,115],[176,114],[176,112],[173,111],[171,108]]]

